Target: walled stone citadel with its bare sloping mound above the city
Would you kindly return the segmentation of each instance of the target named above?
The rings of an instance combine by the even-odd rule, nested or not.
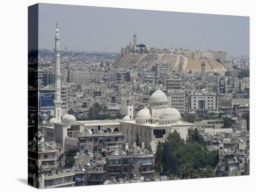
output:
[[[201,71],[202,60],[205,62],[206,72],[224,74],[227,71],[229,53],[223,51],[191,51],[175,48],[154,48],[144,44],[137,44],[134,34],[133,42],[121,48],[121,57],[114,62],[114,66],[129,68],[131,66],[152,67],[156,63],[169,64],[173,70],[179,72]]]

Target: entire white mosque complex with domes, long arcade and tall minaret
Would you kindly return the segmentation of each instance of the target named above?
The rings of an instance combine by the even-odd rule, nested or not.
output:
[[[134,40],[136,44],[136,38]],[[196,124],[182,121],[181,114],[175,108],[168,107],[168,98],[161,90],[155,91],[149,98],[148,106],[141,109],[135,119],[132,115],[115,120],[76,121],[74,115],[65,114],[61,118],[61,73],[60,73],[60,37],[58,26],[55,35],[55,99],[54,118],[43,126],[44,136],[59,143],[63,151],[77,147],[78,135],[84,132],[122,133],[128,146],[136,146],[137,135],[142,144],[152,152],[156,151],[158,142],[163,142],[170,132],[177,131],[182,139],[188,137],[188,130],[195,129]],[[131,117],[131,118],[130,118]],[[89,131],[90,130],[90,131]]]

